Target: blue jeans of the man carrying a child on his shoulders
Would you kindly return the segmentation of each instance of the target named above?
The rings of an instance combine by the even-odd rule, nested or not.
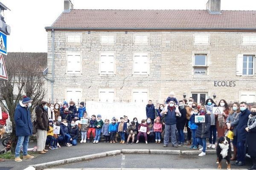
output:
[[[165,125],[164,137],[163,137],[163,144],[164,144],[164,145],[168,145],[168,144],[169,144],[170,133],[171,133],[172,145],[177,144],[177,139],[176,139],[176,124],[174,124],[174,125]]]

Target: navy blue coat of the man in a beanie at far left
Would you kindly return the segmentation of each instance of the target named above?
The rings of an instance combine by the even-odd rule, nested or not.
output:
[[[25,107],[22,102],[17,104],[14,113],[16,136],[31,136],[32,122],[29,108]]]

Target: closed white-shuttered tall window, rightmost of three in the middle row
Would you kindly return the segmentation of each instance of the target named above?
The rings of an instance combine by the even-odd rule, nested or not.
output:
[[[135,53],[134,54],[134,74],[149,74],[148,73],[148,54]]]

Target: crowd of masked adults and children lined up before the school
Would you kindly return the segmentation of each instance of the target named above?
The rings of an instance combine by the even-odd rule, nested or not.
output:
[[[256,168],[256,147],[253,141],[256,140],[256,106],[247,108],[246,102],[234,102],[229,106],[224,99],[215,103],[212,99],[207,99],[204,103],[196,103],[192,97],[177,100],[171,92],[164,104],[157,103],[155,107],[151,100],[146,105],[146,119],[140,122],[136,117],[130,121],[128,116],[120,118],[113,117],[102,120],[101,114],[89,116],[86,112],[85,103],[80,102],[76,108],[75,102],[58,102],[55,104],[41,102],[36,106],[35,122],[31,122],[29,107],[32,100],[24,97],[19,102],[15,110],[16,135],[18,142],[15,150],[15,161],[20,159],[20,148],[23,146],[23,159],[30,159],[27,153],[29,136],[32,132],[37,136],[38,153],[46,154],[46,146],[50,150],[55,150],[61,145],[70,147],[80,143],[103,142],[114,144],[120,139],[121,144],[134,144],[139,142],[155,142],[160,144],[163,139],[163,147],[170,144],[173,147],[185,145],[184,128],[187,132],[186,145],[190,149],[201,150],[198,156],[205,156],[207,148],[215,149],[216,140],[225,136],[230,130],[234,134],[233,156],[231,160],[236,160],[235,166],[244,165],[245,154],[248,153]],[[222,113],[213,113],[214,107],[223,108]],[[203,122],[196,121],[196,116],[204,116]],[[87,120],[85,123],[82,120]],[[119,121],[118,121],[119,119]],[[1,123],[1,121],[0,121]],[[59,134],[54,133],[54,127],[60,127]],[[209,144],[207,145],[207,139]]]

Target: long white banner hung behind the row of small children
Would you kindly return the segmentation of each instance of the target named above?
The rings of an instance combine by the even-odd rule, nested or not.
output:
[[[109,103],[109,102],[94,102],[86,101],[86,112],[88,116],[101,114],[102,120],[116,117],[120,121],[120,117],[128,116],[130,121],[137,117],[138,123],[141,119],[146,119],[146,105],[139,103]]]

